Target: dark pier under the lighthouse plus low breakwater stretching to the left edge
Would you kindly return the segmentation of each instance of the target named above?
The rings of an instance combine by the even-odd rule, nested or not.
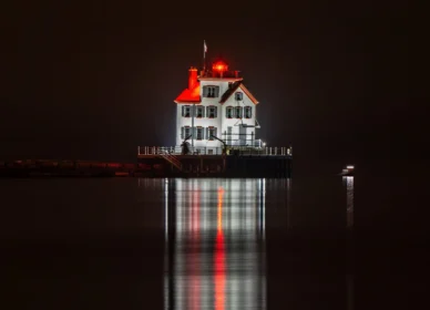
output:
[[[291,148],[137,147],[136,163],[0,161],[0,177],[279,177],[291,176]]]

